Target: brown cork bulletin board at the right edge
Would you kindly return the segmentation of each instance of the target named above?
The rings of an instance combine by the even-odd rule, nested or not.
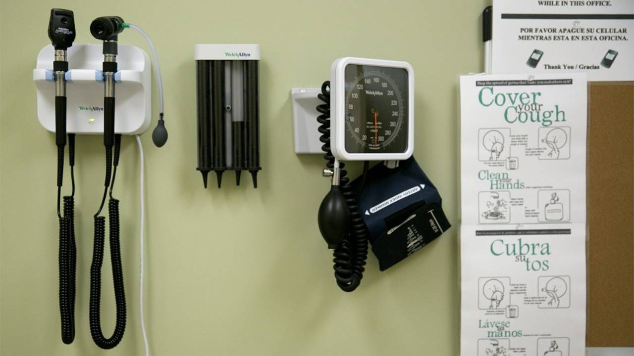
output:
[[[634,83],[588,86],[588,347],[634,346]]]

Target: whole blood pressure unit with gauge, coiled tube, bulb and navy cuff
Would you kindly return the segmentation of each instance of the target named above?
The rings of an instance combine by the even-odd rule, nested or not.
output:
[[[411,239],[404,232],[410,224],[422,224],[414,219],[417,214],[427,219],[422,209],[429,203],[437,203],[440,210],[435,222],[442,226],[440,231],[450,226],[439,208],[436,189],[411,158],[413,75],[413,68],[403,61],[340,58],[332,65],[330,82],[318,94],[323,101],[317,107],[321,113],[317,120],[327,160],[324,175],[331,178],[318,225],[328,248],[334,250],[335,279],[344,291],[353,291],[361,282],[368,239],[386,269],[442,233]],[[384,163],[369,169],[371,160]],[[361,177],[350,182],[343,161],[365,161]],[[368,184],[372,189],[364,189]]]

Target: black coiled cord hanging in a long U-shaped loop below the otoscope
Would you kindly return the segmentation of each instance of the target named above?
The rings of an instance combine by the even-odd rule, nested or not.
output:
[[[94,245],[93,262],[90,266],[90,303],[89,322],[90,333],[94,343],[100,348],[110,349],[119,345],[126,331],[126,293],[123,282],[123,268],[121,264],[121,246],[119,242],[119,200],[112,198],[112,188],[115,184],[121,135],[115,136],[115,158],[112,182],[110,182],[110,162],[112,162],[112,147],[106,147],[106,184],[101,198],[101,206],[94,214]],[[110,338],[105,338],[101,331],[101,265],[103,264],[103,245],[105,241],[105,217],[99,216],[110,186],[110,200],[108,201],[108,220],[110,222],[110,264],[112,264],[112,279],[115,289],[115,305],[117,319],[115,330]]]

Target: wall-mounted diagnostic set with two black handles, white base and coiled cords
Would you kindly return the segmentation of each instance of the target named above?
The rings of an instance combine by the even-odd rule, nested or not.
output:
[[[119,163],[122,134],[138,135],[145,131],[150,125],[151,112],[150,60],[147,54],[140,49],[123,46],[120,51],[117,44],[119,34],[127,28],[138,30],[152,48],[160,97],[159,123],[152,134],[152,139],[156,146],[163,146],[167,141],[167,131],[163,118],[160,70],[152,42],[139,27],[131,23],[124,23],[124,20],[119,16],[98,17],[91,23],[90,32],[94,38],[103,41],[102,46],[76,45],[70,49],[75,39],[74,14],[70,10],[53,9],[48,28],[52,46],[42,49],[37,58],[37,68],[33,72],[33,78],[37,84],[38,117],[46,129],[55,131],[58,150],[59,302],[61,340],[66,344],[72,343],[75,336],[74,305],[77,251],[74,228],[75,134],[103,134],[105,146],[103,196],[99,208],[94,214],[94,245],[90,270],[89,302],[91,336],[96,345],[109,349],[119,344],[126,329],[126,297],[119,243],[119,200],[113,197],[113,188]],[[119,68],[118,56],[123,68]],[[53,70],[49,69],[51,62],[47,61],[46,58],[53,59]],[[117,86],[121,87],[115,91]],[[52,87],[55,91],[54,101],[51,98]],[[117,96],[125,98],[120,105],[115,105],[115,92]],[[51,114],[51,111],[54,112],[54,115]],[[63,197],[62,213],[60,196],[67,137],[72,194]],[[136,138],[140,147],[139,136]],[[100,315],[101,265],[103,263],[106,229],[105,217],[100,216],[100,214],[108,192],[110,196],[108,201],[110,260],[112,262],[116,303],[115,329],[110,338],[106,338],[101,331]],[[141,201],[141,206],[143,207],[143,201]],[[143,236],[142,231],[141,236]],[[143,322],[143,317],[141,317],[141,322]]]

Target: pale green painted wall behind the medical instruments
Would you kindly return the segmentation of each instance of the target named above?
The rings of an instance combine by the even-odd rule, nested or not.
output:
[[[328,182],[320,156],[293,152],[291,87],[316,87],[342,56],[406,60],[416,72],[415,156],[456,221],[456,82],[482,67],[486,1],[23,1],[1,3],[1,348],[13,355],[141,355],[138,151],[124,137],[117,196],[128,305],[126,335],[98,349],[88,327],[92,215],[103,180],[100,137],[77,139],[77,336],[60,341],[55,141],[36,117],[32,69],[51,7],[75,11],[75,43],[96,16],[141,25],[159,51],[170,139],[146,152],[146,323],[153,355],[456,355],[456,227],[342,293],[316,226]],[[193,45],[261,45],[262,170],[236,188],[202,189],[196,167]],[[145,48],[131,30],[120,43]],[[96,88],[96,90],[101,90]],[[158,101],[156,87],[154,107]],[[51,93],[52,95],[53,93]],[[66,170],[68,172],[68,169]],[[65,182],[68,182],[68,176]],[[215,184],[215,179],[212,181]],[[65,186],[68,189],[68,185]],[[108,253],[108,251],[107,251]],[[113,327],[110,262],[104,329]]]

